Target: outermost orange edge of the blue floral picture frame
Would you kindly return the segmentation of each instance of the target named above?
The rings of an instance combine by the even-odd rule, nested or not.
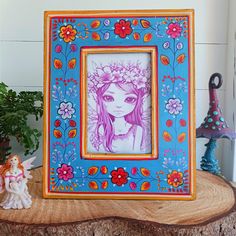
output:
[[[50,75],[48,73],[49,68],[49,58],[47,57],[47,53],[49,52],[49,45],[48,45],[48,23],[49,19],[52,16],[59,16],[59,15],[92,15],[92,16],[106,16],[106,15],[113,15],[113,16],[140,16],[141,14],[145,16],[183,16],[186,15],[189,17],[189,36],[190,36],[190,44],[189,44],[189,52],[190,52],[190,111],[189,114],[190,120],[190,137],[191,140],[189,142],[190,152],[189,155],[190,163],[189,163],[189,170],[191,176],[191,186],[190,186],[190,194],[187,196],[170,196],[170,195],[121,195],[121,194],[113,194],[113,195],[71,195],[71,194],[58,194],[58,193],[49,193],[48,192],[48,124],[47,124],[47,109],[48,109],[48,82],[50,79]],[[84,10],[84,11],[45,11],[44,12],[44,116],[43,116],[43,197],[44,198],[77,198],[77,199],[143,199],[143,200],[194,200],[196,199],[196,121],[195,121],[195,31],[194,31],[194,10],[193,9],[165,9],[165,10]]]

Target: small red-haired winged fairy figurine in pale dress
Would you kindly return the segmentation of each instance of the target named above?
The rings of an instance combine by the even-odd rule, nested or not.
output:
[[[0,206],[4,209],[31,207],[32,200],[28,192],[27,181],[32,178],[29,169],[35,158],[21,162],[18,155],[11,154],[6,163],[0,167],[0,192],[5,191]]]

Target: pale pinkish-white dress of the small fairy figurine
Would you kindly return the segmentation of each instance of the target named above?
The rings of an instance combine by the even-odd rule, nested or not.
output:
[[[9,189],[16,193],[6,191],[0,206],[4,209],[30,208],[32,200],[26,182],[24,181],[23,173],[21,172],[17,175],[13,175],[7,172],[5,179],[6,178],[9,179]],[[20,194],[17,193],[19,189],[23,190]]]

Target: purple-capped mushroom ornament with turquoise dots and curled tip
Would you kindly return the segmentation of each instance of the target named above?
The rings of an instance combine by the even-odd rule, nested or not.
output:
[[[218,84],[216,84],[218,78]],[[209,110],[201,126],[197,129],[197,138],[208,138],[209,142],[201,161],[201,168],[213,174],[221,175],[218,160],[215,157],[216,140],[219,138],[235,139],[236,133],[229,128],[219,105],[216,89],[222,86],[223,80],[219,73],[214,73],[209,81]]]

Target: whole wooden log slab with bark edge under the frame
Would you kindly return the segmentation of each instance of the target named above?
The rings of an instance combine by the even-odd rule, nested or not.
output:
[[[1,236],[236,235],[236,190],[208,172],[197,171],[195,201],[43,199],[42,168],[32,174],[33,206],[0,209]]]

